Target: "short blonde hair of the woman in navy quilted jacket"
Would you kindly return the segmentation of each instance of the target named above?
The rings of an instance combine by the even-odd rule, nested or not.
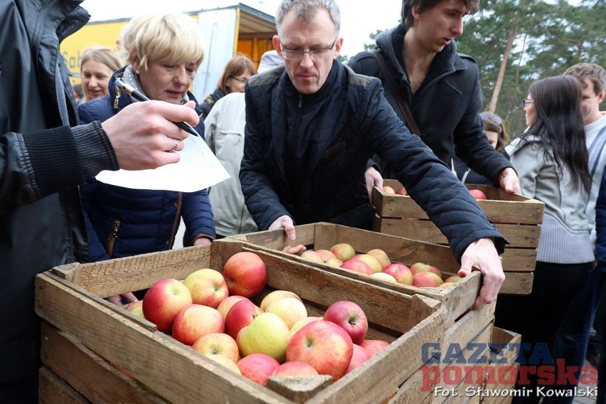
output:
[[[198,23],[183,13],[145,14],[132,18],[119,36],[122,58],[135,60],[142,70],[149,61],[202,63],[205,56]]]

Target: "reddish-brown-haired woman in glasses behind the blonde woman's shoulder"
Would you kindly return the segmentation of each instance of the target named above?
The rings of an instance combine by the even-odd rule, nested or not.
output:
[[[217,88],[211,94],[204,97],[200,107],[202,109],[202,119],[206,119],[208,112],[211,112],[215,102],[228,95],[230,92],[244,92],[246,80],[252,75],[257,74],[257,68],[244,53],[238,53],[225,64],[223,73],[221,73]]]

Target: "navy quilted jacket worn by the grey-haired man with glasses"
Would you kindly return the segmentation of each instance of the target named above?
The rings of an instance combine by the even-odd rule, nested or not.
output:
[[[378,154],[445,233],[457,258],[478,238],[495,238],[502,251],[504,238],[452,171],[395,115],[381,81],[335,61],[321,89],[302,95],[282,67],[252,76],[245,100],[240,182],[260,229],[283,215],[296,224],[358,225],[344,215],[370,206],[364,171]]]

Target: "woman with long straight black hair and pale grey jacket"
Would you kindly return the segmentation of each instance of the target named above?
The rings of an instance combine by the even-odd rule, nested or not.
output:
[[[507,147],[522,194],[545,203],[532,292],[499,295],[496,304],[495,325],[518,332],[522,344],[529,344],[522,365],[555,363],[555,335],[594,260],[585,215],[591,179],[580,105],[580,83],[570,75],[532,83],[523,101],[528,129]],[[539,349],[543,355],[537,356]],[[536,363],[539,357],[541,363]],[[541,398],[535,394],[536,374],[526,376],[516,388],[533,392],[514,403]]]

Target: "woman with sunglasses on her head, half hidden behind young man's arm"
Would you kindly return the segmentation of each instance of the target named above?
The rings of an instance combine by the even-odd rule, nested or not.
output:
[[[509,159],[509,154],[505,151],[508,136],[503,125],[503,119],[499,115],[491,114],[490,112],[482,112],[480,118],[482,118],[482,122],[484,123],[484,133],[490,145]],[[456,154],[452,158],[452,164],[454,171],[457,173],[457,178],[463,184],[494,185],[493,181],[470,169]]]

